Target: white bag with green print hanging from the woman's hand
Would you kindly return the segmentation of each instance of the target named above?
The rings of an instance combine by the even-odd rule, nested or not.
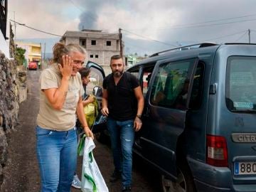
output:
[[[95,143],[91,137],[85,137],[82,140],[85,142],[83,146],[81,190],[83,192],[108,192],[107,185],[92,154]]]

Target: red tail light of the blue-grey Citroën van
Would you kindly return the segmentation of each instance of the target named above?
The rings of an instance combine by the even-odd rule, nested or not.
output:
[[[207,135],[207,164],[228,167],[228,148],[225,137]]]

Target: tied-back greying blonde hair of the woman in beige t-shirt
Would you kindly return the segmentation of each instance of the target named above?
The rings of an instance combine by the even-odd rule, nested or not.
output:
[[[62,63],[62,56],[68,55],[71,52],[79,52],[82,54],[86,54],[85,48],[82,48],[78,44],[70,43],[68,45],[64,45],[63,43],[55,43],[53,46],[53,62],[54,63]]]

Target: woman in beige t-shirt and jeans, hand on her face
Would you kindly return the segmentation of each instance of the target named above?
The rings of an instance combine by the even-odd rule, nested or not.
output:
[[[77,163],[76,117],[87,137],[93,138],[83,112],[78,73],[85,56],[85,49],[77,44],[56,43],[54,63],[41,73],[36,151],[43,192],[70,191]]]

